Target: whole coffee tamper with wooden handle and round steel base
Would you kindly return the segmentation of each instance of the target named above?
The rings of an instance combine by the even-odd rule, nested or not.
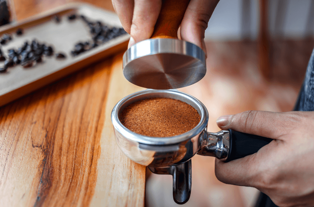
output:
[[[177,31],[188,3],[162,1],[151,39],[134,44],[123,55],[123,74],[129,82],[144,88],[174,89],[192,85],[205,76],[203,50],[178,40]]]

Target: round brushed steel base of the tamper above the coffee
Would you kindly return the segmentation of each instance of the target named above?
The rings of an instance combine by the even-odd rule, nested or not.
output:
[[[148,39],[123,55],[124,77],[144,88],[182,88],[198,82],[205,73],[204,51],[183,40]]]

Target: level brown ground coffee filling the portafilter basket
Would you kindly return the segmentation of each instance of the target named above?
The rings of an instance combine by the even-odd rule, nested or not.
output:
[[[172,98],[139,100],[123,109],[119,119],[127,129],[154,137],[183,134],[201,120],[191,105]]]

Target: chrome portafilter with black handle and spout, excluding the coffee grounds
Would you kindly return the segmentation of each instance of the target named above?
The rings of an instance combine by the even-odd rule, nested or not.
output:
[[[201,117],[192,130],[172,137],[149,137],[124,127],[119,113],[129,104],[146,98],[173,98],[190,104]],[[111,121],[116,142],[134,162],[148,166],[156,174],[173,176],[173,199],[177,204],[188,201],[192,187],[192,162],[195,154],[229,162],[254,154],[272,139],[233,130],[207,132],[208,111],[196,98],[176,90],[144,90],[128,95],[113,108]]]

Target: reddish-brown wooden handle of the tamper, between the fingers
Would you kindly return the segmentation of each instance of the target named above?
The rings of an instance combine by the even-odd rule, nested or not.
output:
[[[162,0],[151,38],[178,39],[178,29],[190,0]]]

